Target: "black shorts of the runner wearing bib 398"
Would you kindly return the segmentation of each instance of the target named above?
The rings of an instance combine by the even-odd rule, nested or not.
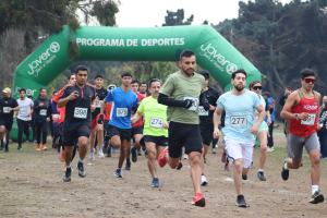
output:
[[[89,137],[89,134],[90,126],[87,124],[78,125],[74,130],[63,131],[63,144],[64,146],[74,146],[75,140],[82,136]]]

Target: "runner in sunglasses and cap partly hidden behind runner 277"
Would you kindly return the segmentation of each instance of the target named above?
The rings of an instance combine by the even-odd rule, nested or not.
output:
[[[255,136],[255,140],[258,140],[259,142],[259,146],[261,146],[261,157],[259,157],[259,170],[257,172],[257,179],[259,179],[261,181],[266,181],[266,177],[264,174],[264,167],[267,160],[267,134],[268,134],[268,125],[271,124],[271,116],[269,112],[269,106],[268,106],[268,101],[266,98],[264,98],[261,93],[263,89],[263,85],[262,82],[259,81],[253,81],[249,84],[249,89],[254,92],[258,98],[261,99],[265,110],[266,110],[266,114],[267,114],[267,122],[263,121],[259,128],[258,133]],[[255,124],[257,122],[258,119],[258,112],[255,110],[254,111],[254,119],[253,119],[253,124]]]

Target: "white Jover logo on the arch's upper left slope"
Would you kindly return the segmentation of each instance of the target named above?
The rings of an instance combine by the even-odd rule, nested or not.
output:
[[[38,76],[40,70],[43,70],[43,68],[45,68],[47,64],[51,63],[56,58],[56,55],[52,53],[57,53],[59,50],[60,45],[57,41],[53,41],[50,47],[38,57],[38,59],[35,59],[34,61],[32,61],[32,63],[28,64],[28,66],[31,68],[28,74],[32,75],[36,72],[35,76]]]

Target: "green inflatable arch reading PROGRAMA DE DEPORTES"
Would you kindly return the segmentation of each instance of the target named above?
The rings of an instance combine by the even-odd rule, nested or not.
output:
[[[81,48],[78,61],[179,61],[182,50],[191,49],[196,55],[197,64],[208,70],[227,90],[232,87],[230,74],[238,69],[249,73],[247,82],[261,80],[258,70],[207,25],[149,28],[82,26],[74,34],[64,26],[16,68],[14,98],[20,97],[19,90],[24,87],[35,99],[40,87],[46,87],[72,64],[68,59],[69,37],[73,37]],[[16,121],[11,138],[17,140]]]

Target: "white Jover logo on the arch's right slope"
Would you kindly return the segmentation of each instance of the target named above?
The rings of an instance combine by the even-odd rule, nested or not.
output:
[[[232,74],[232,72],[238,70],[237,64],[231,63],[229,60],[225,58],[221,53],[218,53],[216,48],[209,44],[208,46],[201,46],[201,56],[206,57],[217,69],[221,72],[227,72],[228,74]]]

